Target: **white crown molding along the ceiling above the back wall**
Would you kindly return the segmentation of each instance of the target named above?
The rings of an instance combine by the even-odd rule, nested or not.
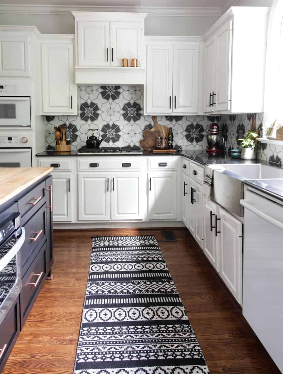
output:
[[[220,17],[219,7],[71,6],[0,4],[0,14],[63,14],[71,12],[137,12],[154,16]]]

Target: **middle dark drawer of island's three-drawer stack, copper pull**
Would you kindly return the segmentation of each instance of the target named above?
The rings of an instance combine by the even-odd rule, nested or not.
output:
[[[45,205],[25,224],[25,242],[21,248],[22,277],[25,275],[33,258],[35,249],[46,240],[46,209]]]

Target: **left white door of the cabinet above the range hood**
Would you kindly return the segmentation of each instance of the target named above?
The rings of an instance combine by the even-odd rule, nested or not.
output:
[[[78,21],[79,66],[110,66],[110,22]]]

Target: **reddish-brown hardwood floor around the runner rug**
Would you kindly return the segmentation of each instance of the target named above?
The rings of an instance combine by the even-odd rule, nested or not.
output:
[[[3,374],[72,374],[92,235],[155,235],[211,374],[280,374],[186,229],[164,242],[157,229],[54,232],[53,281],[46,281]]]

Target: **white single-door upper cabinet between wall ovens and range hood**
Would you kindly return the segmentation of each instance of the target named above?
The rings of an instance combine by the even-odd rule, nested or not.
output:
[[[72,44],[45,44],[42,49],[42,113],[77,114]]]

